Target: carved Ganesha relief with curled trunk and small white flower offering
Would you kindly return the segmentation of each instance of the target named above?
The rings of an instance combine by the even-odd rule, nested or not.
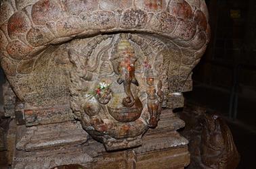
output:
[[[70,71],[71,108],[85,131],[102,141],[106,149],[137,147],[142,135],[149,127],[156,127],[159,120],[166,72],[159,68],[156,71],[154,66],[158,65],[150,65],[154,64],[152,56],[135,53],[134,48],[140,46],[132,39],[140,40],[140,36],[105,37],[110,43],[96,56],[86,55],[83,50],[88,46],[81,51],[68,50],[74,67]],[[96,48],[103,40],[93,39],[92,43]]]

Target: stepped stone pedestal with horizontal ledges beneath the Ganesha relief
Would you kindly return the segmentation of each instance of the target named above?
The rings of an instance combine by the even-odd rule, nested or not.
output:
[[[164,110],[156,129],[142,137],[142,146],[107,152],[75,121],[38,127],[18,126],[14,168],[54,168],[80,164],[85,168],[184,168],[190,163],[188,141],[176,132],[184,127]]]

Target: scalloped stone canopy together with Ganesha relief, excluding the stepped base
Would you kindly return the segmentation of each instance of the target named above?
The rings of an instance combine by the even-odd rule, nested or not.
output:
[[[201,0],[4,1],[0,13],[26,126],[79,120],[107,150],[140,145],[163,107],[182,106],[209,42]]]

